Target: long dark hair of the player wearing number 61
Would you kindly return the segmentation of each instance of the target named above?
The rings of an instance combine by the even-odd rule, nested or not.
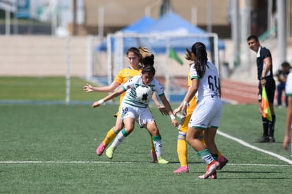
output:
[[[202,76],[205,75],[208,61],[205,44],[202,42],[196,42],[193,44],[192,53],[195,55],[195,70],[197,71],[197,75],[202,78]]]

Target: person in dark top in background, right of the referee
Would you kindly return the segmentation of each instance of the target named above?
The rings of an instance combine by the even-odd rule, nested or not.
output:
[[[284,62],[281,64],[281,69],[276,72],[276,78],[278,78],[279,84],[276,86],[277,91],[277,105],[282,105],[282,92],[285,91],[285,85],[287,80],[287,75],[290,72],[291,66],[288,62]],[[288,97],[285,97],[285,105],[288,106]]]

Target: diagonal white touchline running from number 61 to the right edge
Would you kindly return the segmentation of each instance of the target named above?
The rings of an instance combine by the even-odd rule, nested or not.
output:
[[[273,153],[273,152],[269,152],[269,151],[267,151],[267,150],[262,150],[262,149],[260,149],[259,147],[255,147],[255,146],[253,146],[253,145],[250,145],[249,143],[246,143],[246,142],[243,141],[243,140],[240,140],[240,139],[238,139],[238,138],[234,138],[234,137],[232,137],[231,135],[228,135],[228,134],[226,134],[226,133],[223,133],[223,132],[221,132],[221,131],[219,131],[219,130],[217,130],[217,134],[222,135],[222,136],[224,136],[225,138],[229,138],[229,139],[231,139],[231,140],[234,140],[234,141],[236,141],[237,143],[239,143],[239,144],[241,144],[241,145],[244,145],[245,147],[250,147],[250,148],[253,149],[253,150],[257,150],[257,151],[259,151],[259,152],[264,152],[265,154],[269,154],[269,155],[271,155],[271,156],[273,156],[273,157],[276,157],[276,158],[278,158],[278,159],[281,159],[281,161],[287,162],[288,164],[292,164],[292,160],[291,160],[291,159],[287,159],[286,157],[282,157],[282,156],[279,155],[279,154],[275,154],[275,153]]]

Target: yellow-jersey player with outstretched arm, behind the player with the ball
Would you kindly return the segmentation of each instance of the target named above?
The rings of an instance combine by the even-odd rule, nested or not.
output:
[[[130,65],[126,68],[123,68],[121,71],[118,72],[118,75],[116,75],[116,78],[113,83],[104,87],[92,87],[92,85],[86,84],[84,86],[84,90],[86,92],[113,92],[116,89],[116,87],[118,87],[119,85],[123,83],[126,83],[128,80],[130,80],[130,78],[133,78],[135,75],[140,75],[143,68],[142,67],[143,59],[146,56],[150,56],[150,55],[151,55],[150,51],[148,51],[145,47],[139,47],[139,48],[131,47],[126,52],[126,56],[128,58]],[[125,95],[126,95],[126,92],[121,95],[120,105]],[[157,107],[159,108],[159,111],[161,111],[162,114],[167,114],[164,107],[159,103],[159,100],[157,99],[156,95],[153,95],[152,99],[154,103],[157,105]],[[97,152],[97,155],[99,156],[102,155],[107,145],[109,145],[109,143],[111,143],[111,141],[114,140],[118,132],[121,131],[121,129],[123,128],[123,123],[120,118],[121,116],[120,108],[121,107],[118,107],[118,112],[114,115],[116,117],[116,125],[109,129],[106,137],[104,138],[102,143],[100,143],[99,147],[97,147],[96,152]],[[151,138],[151,143],[152,143],[151,154],[153,157],[153,162],[157,162],[157,156],[155,154],[152,138]]]

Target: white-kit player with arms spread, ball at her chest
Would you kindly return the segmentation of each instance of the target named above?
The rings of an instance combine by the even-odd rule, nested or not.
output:
[[[109,158],[113,157],[113,153],[116,147],[118,147],[123,139],[134,130],[136,121],[141,128],[146,128],[147,131],[152,135],[158,163],[169,163],[166,159],[162,158],[162,137],[159,133],[159,129],[157,128],[151,111],[147,108],[149,105],[149,100],[147,102],[142,102],[135,95],[135,90],[138,86],[150,86],[152,88],[152,92],[156,91],[157,95],[159,95],[166,111],[168,111],[168,114],[171,117],[171,123],[173,126],[178,126],[178,121],[172,112],[169,101],[164,95],[164,89],[159,81],[154,78],[155,68],[153,67],[153,63],[154,62],[145,64],[142,70],[142,75],[137,75],[131,78],[119,90],[116,90],[116,92],[113,92],[107,97],[104,97],[104,99],[101,99],[92,104],[92,107],[99,107],[100,104],[108,101],[109,99],[113,99],[114,97],[118,97],[126,91],[126,95],[123,98],[123,102],[121,103],[121,119],[124,123],[124,128],[118,133],[118,135],[116,135],[116,138],[114,139],[114,142],[111,144],[111,146],[107,148],[106,154]]]

